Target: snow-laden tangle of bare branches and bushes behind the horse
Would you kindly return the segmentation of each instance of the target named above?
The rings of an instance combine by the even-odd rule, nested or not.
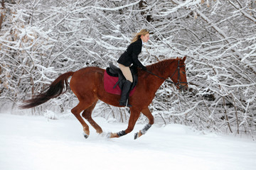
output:
[[[254,137],[255,0],[2,0],[0,111],[23,114],[18,105],[58,75],[117,63],[142,28],[151,32],[144,65],[187,56],[191,91],[165,82],[149,106],[156,123]],[[77,103],[69,90],[29,111],[70,114]],[[129,111],[99,101],[93,115],[127,122]]]

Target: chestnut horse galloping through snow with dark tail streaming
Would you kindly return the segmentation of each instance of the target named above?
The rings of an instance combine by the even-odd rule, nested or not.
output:
[[[148,106],[153,100],[157,89],[164,83],[165,79],[171,78],[178,89],[188,89],[185,60],[186,57],[183,57],[183,59],[176,58],[157,62],[147,66],[146,72],[139,69],[136,90],[133,96],[129,97],[129,103],[132,105],[130,108],[129,125],[126,130],[117,133],[109,133],[108,137],[121,137],[122,135],[132,132],[141,112],[149,119],[149,124],[145,125],[142,130],[139,130],[139,132],[134,135],[134,139],[144,135],[154,123],[154,117],[149,111]],[[55,79],[46,91],[34,96],[28,101],[24,101],[25,104],[21,106],[21,108],[33,108],[45,103],[50,100],[50,98],[55,98],[65,93],[68,87],[68,78],[72,76],[70,79],[70,89],[74,92],[75,96],[78,97],[79,103],[71,112],[82,124],[85,138],[90,135],[89,126],[85,123],[85,120],[95,128],[97,133],[101,134],[102,128],[92,120],[92,110],[95,108],[97,101],[100,99],[107,104],[120,107],[120,96],[109,94],[104,89],[104,72],[105,69],[98,67],[85,67],[77,72],[66,72]],[[65,91],[63,91],[64,89]],[[82,116],[80,115],[81,112]],[[85,120],[82,117],[85,118]]]

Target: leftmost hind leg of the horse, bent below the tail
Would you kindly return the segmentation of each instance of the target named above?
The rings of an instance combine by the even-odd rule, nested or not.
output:
[[[78,103],[78,106],[75,106],[75,108],[73,108],[71,110],[71,112],[75,115],[75,118],[77,118],[80,123],[82,124],[82,128],[84,131],[84,137],[87,138],[90,135],[90,130],[89,130],[89,126],[85,123],[85,120],[82,119],[80,113],[85,110],[85,108],[87,108],[88,106],[85,105],[85,103]]]

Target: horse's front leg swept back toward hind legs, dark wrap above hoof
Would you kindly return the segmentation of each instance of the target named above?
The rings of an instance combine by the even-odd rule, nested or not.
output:
[[[128,125],[128,128],[126,130],[122,130],[120,132],[117,132],[117,133],[110,133],[109,134],[109,137],[112,138],[112,137],[122,137],[124,135],[127,135],[129,132],[132,132],[132,130],[134,129],[134,125],[135,123],[137,122],[138,118],[139,118],[139,114],[140,114],[140,111],[137,111],[136,109],[134,108],[131,108],[131,115],[129,117],[129,125]]]

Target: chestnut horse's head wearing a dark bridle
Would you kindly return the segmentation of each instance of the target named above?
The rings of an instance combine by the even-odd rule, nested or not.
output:
[[[174,85],[176,87],[183,91],[188,91],[188,81],[186,79],[186,64],[185,64],[186,57],[183,57],[183,59],[176,60],[176,66],[174,66],[173,74],[170,75],[170,78],[172,81],[174,81]]]

